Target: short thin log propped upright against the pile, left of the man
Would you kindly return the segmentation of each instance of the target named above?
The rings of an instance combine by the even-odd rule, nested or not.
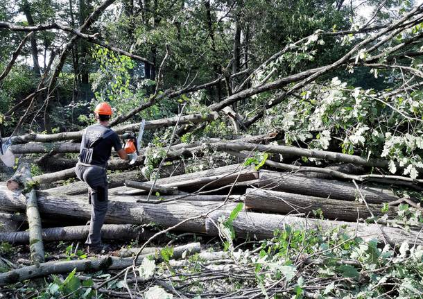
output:
[[[26,197],[26,217],[29,225],[29,248],[34,264],[44,262],[41,217],[37,205],[37,194],[29,164],[21,164],[15,175],[6,183],[9,190],[21,190]]]

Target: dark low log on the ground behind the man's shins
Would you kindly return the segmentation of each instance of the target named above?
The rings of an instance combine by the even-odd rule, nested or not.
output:
[[[62,228],[44,228],[43,241],[76,241],[87,239],[89,226],[64,226]],[[105,224],[101,228],[103,239],[130,241],[131,239],[148,239],[153,236],[150,230],[129,224]],[[0,241],[10,244],[28,244],[28,232],[0,233]]]

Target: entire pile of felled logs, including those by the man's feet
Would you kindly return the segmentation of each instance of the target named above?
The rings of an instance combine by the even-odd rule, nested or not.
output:
[[[76,133],[69,136],[78,138]],[[224,238],[221,224],[230,217],[232,211],[239,209],[241,203],[241,212],[231,221],[239,239],[269,239],[273,237],[275,230],[285,230],[287,227],[316,230],[340,228],[351,237],[377,239],[391,246],[402,244],[404,241],[423,245],[420,228],[403,230],[389,225],[386,220],[397,216],[397,206],[400,203],[406,202],[420,209],[420,205],[409,198],[399,198],[395,195],[386,182],[420,188],[420,180],[366,174],[370,167],[383,169],[387,162],[282,146],[277,144],[282,142],[278,140],[279,137],[279,134],[272,133],[233,139],[230,142],[211,139],[205,143],[171,146],[166,159],[173,162],[192,151],[196,151],[198,155],[206,153],[207,149],[207,153],[229,153],[234,157],[232,161],[236,163],[192,173],[176,172],[178,175],[172,171],[168,177],[163,176],[165,172],[160,172],[162,169],[159,169],[162,177],[150,181],[142,180],[137,170],[137,166],[143,164],[144,157],[139,157],[135,167],[129,166],[127,162],[111,160],[110,168],[118,172],[109,175],[110,202],[106,224],[103,227],[103,239],[139,239],[148,240],[148,243],[158,236],[164,237],[162,233],[170,230]],[[51,142],[52,138],[35,135],[31,138],[17,137],[15,142],[27,141],[30,143],[19,146],[28,146],[34,140]],[[60,140],[63,139],[64,135],[60,135]],[[65,150],[68,145],[54,148]],[[45,144],[41,147],[44,146]],[[70,144],[67,150],[76,151],[78,146],[72,146],[76,145]],[[35,147],[35,153],[39,152],[37,148],[40,148],[40,145]],[[267,159],[245,163],[252,155],[257,157],[258,153],[268,153]],[[284,163],[278,159],[281,155]],[[51,157],[54,156],[50,155]],[[324,165],[331,166],[299,164],[300,157],[318,158]],[[64,160],[63,157],[60,159]],[[85,183],[77,181],[57,187],[38,185],[37,191],[34,189],[40,182],[45,184],[74,177],[73,171],[74,169],[64,169],[31,178],[26,166],[25,171],[19,168],[7,186],[0,185],[0,207],[3,213],[0,217],[8,221],[22,222],[22,216],[12,215],[17,212],[26,213],[31,228],[29,232],[16,231],[15,226],[12,229],[14,231],[1,232],[0,241],[31,244],[33,248],[36,244],[42,246],[42,241],[85,239],[88,227],[83,224],[90,219],[91,214]],[[367,181],[369,179],[385,184],[370,185]],[[31,214],[34,210],[37,210],[38,216],[37,213]],[[381,216],[384,216],[384,222],[377,221]],[[50,228],[41,229],[44,223]],[[73,226],[64,227],[52,223],[71,223]],[[152,225],[159,232],[150,230]],[[31,232],[34,228],[37,229],[37,237],[31,237],[34,236],[34,232]],[[73,268],[85,271],[87,267],[85,262],[78,261],[63,262],[60,265],[53,262],[44,263],[40,257],[42,248],[31,250],[33,256],[38,257],[30,262],[34,265],[0,275],[0,285],[8,284],[16,277],[19,277],[18,280],[24,280],[51,273],[66,273]],[[193,252],[198,250],[196,245]],[[137,264],[146,255],[139,257],[141,259],[137,259]],[[107,259],[107,263],[111,269],[119,269],[130,265],[130,260],[132,258],[112,258]],[[100,259],[90,263],[95,268],[101,267],[105,261]]]

